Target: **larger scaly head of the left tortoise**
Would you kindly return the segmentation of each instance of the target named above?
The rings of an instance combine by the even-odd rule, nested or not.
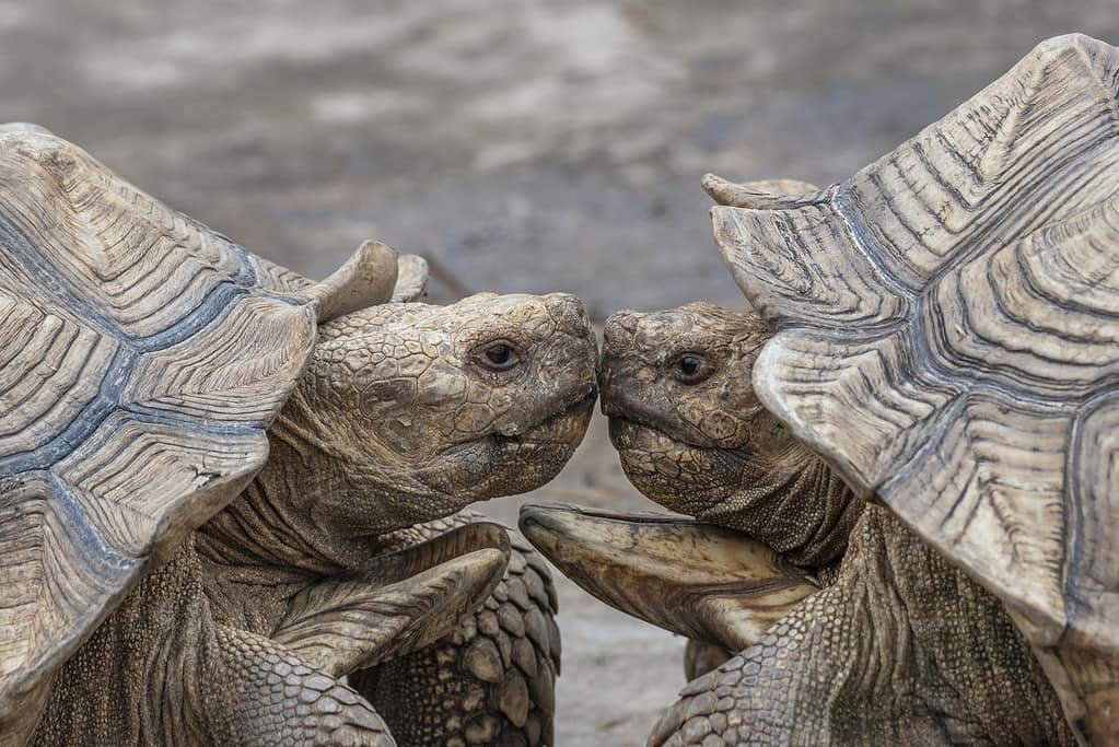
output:
[[[307,508],[333,531],[368,535],[533,490],[582,439],[596,363],[587,316],[566,294],[333,319],[284,419],[331,457],[346,489],[314,491]]]

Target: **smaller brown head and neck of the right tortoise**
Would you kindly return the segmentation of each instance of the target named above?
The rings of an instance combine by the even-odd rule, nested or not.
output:
[[[711,303],[619,312],[605,327],[602,412],[645,495],[825,565],[846,547],[862,502],[754,394],[769,338],[755,314]]]

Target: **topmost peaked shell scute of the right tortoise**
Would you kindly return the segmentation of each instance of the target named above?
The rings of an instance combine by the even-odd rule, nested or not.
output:
[[[1111,57],[1110,47],[1087,37],[1043,42],[840,186],[856,233],[868,231],[863,248],[919,289],[978,248],[975,238],[998,246],[1109,197],[1107,174],[1119,159]]]

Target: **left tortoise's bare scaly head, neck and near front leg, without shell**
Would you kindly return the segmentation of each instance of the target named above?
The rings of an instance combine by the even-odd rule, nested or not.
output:
[[[264,470],[67,662],[32,744],[395,744],[339,681],[376,662],[328,672],[295,652],[299,635],[280,644],[289,605],[361,579],[393,532],[551,480],[586,427],[595,363],[582,306],[558,294],[386,304],[321,325]],[[478,602],[502,566],[471,581]]]

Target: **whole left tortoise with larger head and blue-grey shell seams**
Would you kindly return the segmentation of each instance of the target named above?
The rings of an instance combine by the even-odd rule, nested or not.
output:
[[[314,283],[34,125],[0,131],[0,744],[395,744],[344,678],[453,637],[525,562],[444,518],[582,438],[581,303],[408,302],[422,259],[375,242]],[[488,736],[529,707],[496,700]]]

